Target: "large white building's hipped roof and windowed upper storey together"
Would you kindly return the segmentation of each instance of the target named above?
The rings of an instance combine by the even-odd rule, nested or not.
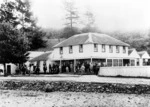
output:
[[[130,64],[129,45],[105,34],[74,35],[54,46],[52,59],[62,64],[100,63],[101,66],[127,66]]]

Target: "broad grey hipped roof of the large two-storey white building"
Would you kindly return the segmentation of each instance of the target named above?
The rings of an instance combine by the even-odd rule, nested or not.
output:
[[[70,45],[79,45],[79,44],[106,44],[106,45],[119,45],[119,46],[129,46],[129,44],[124,43],[120,40],[117,40],[106,34],[98,33],[83,33],[74,35],[54,46],[56,47],[66,47]]]

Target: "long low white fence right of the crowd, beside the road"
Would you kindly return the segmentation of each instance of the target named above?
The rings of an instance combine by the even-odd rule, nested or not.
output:
[[[101,67],[100,76],[150,77],[150,66]]]

